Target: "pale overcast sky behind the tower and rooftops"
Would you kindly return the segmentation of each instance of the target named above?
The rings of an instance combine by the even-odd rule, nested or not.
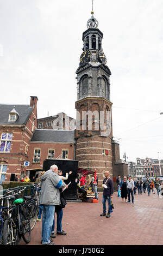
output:
[[[1,104],[76,118],[76,70],[92,0],[0,0]],[[121,158],[163,159],[163,1],[95,0]]]

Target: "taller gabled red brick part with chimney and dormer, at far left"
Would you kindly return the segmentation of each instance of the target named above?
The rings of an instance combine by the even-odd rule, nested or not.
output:
[[[30,140],[37,127],[37,97],[29,105],[0,104],[0,183],[11,174],[23,176]]]

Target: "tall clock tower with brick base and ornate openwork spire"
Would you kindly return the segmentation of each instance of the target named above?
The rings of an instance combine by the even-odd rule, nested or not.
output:
[[[112,116],[110,69],[103,52],[103,33],[91,12],[83,33],[83,52],[77,74],[76,159],[79,167],[97,171],[99,186],[104,171],[112,176]]]

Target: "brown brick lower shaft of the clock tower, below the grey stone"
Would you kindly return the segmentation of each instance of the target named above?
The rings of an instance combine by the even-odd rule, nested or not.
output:
[[[79,161],[78,166],[91,171],[97,171],[98,186],[102,186],[104,180],[104,171],[110,172],[112,178],[112,117],[110,115],[110,135],[102,136],[101,127],[95,130],[95,117],[92,117],[92,130],[82,128],[82,112],[83,111],[104,111],[106,119],[106,109],[111,111],[112,103],[104,98],[85,98],[76,103],[76,109],[80,113],[80,119],[77,118],[76,130],[76,160]],[[111,113],[111,112],[110,112]],[[95,118],[96,119],[96,118]],[[106,126],[106,122],[105,122]],[[104,150],[104,154],[103,154]]]

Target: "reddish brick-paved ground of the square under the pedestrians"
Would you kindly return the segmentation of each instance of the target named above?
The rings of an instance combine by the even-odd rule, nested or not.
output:
[[[163,245],[163,200],[158,195],[134,196],[135,204],[122,203],[114,193],[111,218],[99,216],[98,203],[67,203],[62,219],[66,236],[56,235],[56,245]],[[108,208],[107,208],[108,209]],[[56,223],[56,219],[55,219]],[[28,245],[41,245],[41,224],[37,222]],[[56,227],[55,227],[56,228]],[[25,245],[24,241],[21,245]]]

